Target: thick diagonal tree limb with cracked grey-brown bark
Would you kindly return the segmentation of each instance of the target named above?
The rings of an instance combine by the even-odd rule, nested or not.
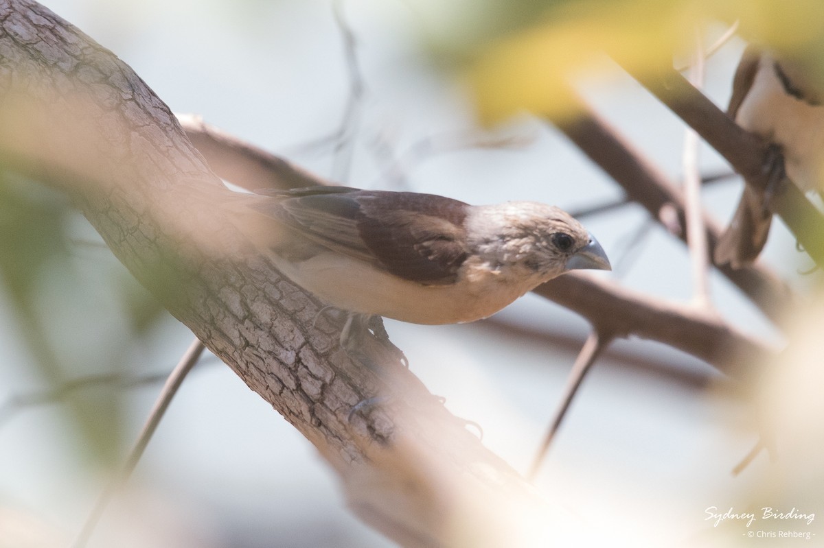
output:
[[[232,193],[166,104],[27,0],[0,0],[0,160],[69,193],[133,275],[320,450],[382,532],[405,546],[515,546],[555,522],[377,341],[364,353],[381,367],[350,360],[340,323],[255,253]]]

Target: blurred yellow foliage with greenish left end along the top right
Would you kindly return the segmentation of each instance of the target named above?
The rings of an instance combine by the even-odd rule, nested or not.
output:
[[[569,112],[569,84],[604,66],[672,67],[710,22],[740,22],[748,41],[822,58],[821,0],[417,0],[435,57],[461,67],[480,117]],[[820,64],[817,63],[820,69]],[[820,73],[819,77],[822,76]],[[824,81],[824,77],[822,77]]]

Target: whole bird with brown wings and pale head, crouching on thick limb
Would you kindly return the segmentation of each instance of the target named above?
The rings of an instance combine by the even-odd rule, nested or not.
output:
[[[323,186],[257,191],[273,223],[260,241],[297,286],[350,314],[439,325],[474,322],[576,269],[611,270],[568,213],[538,202],[471,206],[434,194]]]

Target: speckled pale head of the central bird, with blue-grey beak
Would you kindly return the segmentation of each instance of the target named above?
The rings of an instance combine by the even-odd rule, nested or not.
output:
[[[611,270],[597,239],[558,207],[536,202],[477,207],[467,228],[489,267],[528,276],[535,285],[569,270]]]

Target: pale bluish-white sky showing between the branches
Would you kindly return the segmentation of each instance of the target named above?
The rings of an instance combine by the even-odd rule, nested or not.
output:
[[[349,89],[330,2],[45,3],[129,63],[174,111],[200,114],[224,131],[335,176],[330,151],[304,146],[338,128]],[[344,12],[358,39],[367,91],[353,169],[340,182],[385,188],[388,161],[375,152],[376,143],[400,156],[421,138],[466,130],[475,122],[458,87],[433,72],[420,53],[415,18],[405,2],[351,0],[344,2]],[[722,106],[741,49],[734,41],[709,62],[708,93]],[[606,60],[605,67],[603,81],[583,87],[583,95],[639,151],[677,178],[681,125]],[[620,195],[615,183],[545,123],[523,118],[499,131],[533,140],[517,150],[433,156],[410,167],[410,188],[473,203],[528,199],[565,209]],[[701,161],[707,172],[725,169],[709,151],[702,152]],[[724,221],[738,188],[720,183],[705,193]],[[639,207],[625,207],[585,222],[616,264],[645,215]],[[797,278],[808,260],[795,253],[780,223],[775,225],[765,260]],[[85,233],[82,223],[77,232]],[[621,276],[634,289],[686,301],[691,295],[687,261],[683,246],[656,226],[629,270],[603,276]],[[110,316],[110,326],[105,333],[88,332],[82,318],[74,318],[77,309],[55,311],[56,318],[77,323],[77,332],[64,336],[67,343],[122,337],[128,327],[105,281],[119,266],[105,250],[87,248],[77,252],[77,264],[99,288],[80,290],[77,309],[87,309],[91,300],[98,313]],[[737,290],[721,276],[712,281],[724,317],[777,341]],[[0,401],[42,385],[6,309],[0,309]],[[587,334],[583,320],[532,295],[495,319],[537,333],[561,331],[582,340]],[[541,337],[513,339],[493,323],[387,322],[387,328],[428,388],[446,397],[457,416],[480,423],[485,444],[526,471],[577,350],[557,351]],[[190,340],[188,330],[170,318],[157,327],[152,346],[136,349],[130,359],[143,372],[171,369]],[[642,347],[648,357],[667,356],[681,372],[715,377],[708,366],[653,343],[621,341],[618,347]],[[104,356],[101,351],[101,360]],[[159,388],[126,392],[131,415],[124,452]],[[584,383],[546,459],[541,486],[548,493],[564,490],[566,504],[599,527],[625,518],[637,525],[676,523],[668,530],[681,540],[707,527],[706,507],[729,505],[741,489],[729,471],[756,440],[746,426],[747,409],[723,393],[604,360]],[[101,471],[90,469],[77,449],[59,406],[21,411],[2,425],[0,507],[73,534],[101,481]],[[745,475],[764,466],[762,457]],[[311,445],[212,357],[187,379],[133,485],[133,498],[149,506],[138,515],[168,511],[181,534],[195,539],[169,546],[392,546],[344,509],[335,476]],[[157,523],[141,519],[146,521],[131,527]]]

